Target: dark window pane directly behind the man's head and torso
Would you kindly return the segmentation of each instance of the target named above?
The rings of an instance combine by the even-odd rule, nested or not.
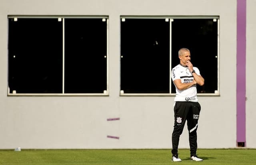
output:
[[[205,79],[198,93],[218,90],[218,22],[213,19],[174,19],[172,22],[172,67],[180,63],[178,50],[190,49],[191,62]],[[172,83],[172,93],[175,86]]]

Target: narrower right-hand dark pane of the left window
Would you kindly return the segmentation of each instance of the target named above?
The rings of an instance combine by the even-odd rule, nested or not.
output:
[[[65,19],[65,93],[107,90],[107,22]]]

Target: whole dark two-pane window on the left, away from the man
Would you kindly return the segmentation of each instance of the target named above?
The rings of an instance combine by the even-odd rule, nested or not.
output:
[[[107,19],[8,20],[9,94],[107,94]]]

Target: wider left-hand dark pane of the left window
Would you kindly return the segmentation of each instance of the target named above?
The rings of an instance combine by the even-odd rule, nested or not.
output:
[[[62,22],[9,18],[8,85],[16,93],[62,93]]]

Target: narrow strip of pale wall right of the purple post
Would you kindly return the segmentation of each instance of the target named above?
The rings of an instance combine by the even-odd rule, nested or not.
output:
[[[246,144],[248,147],[256,148],[255,133],[255,43],[256,43],[256,19],[255,19],[255,0],[247,0],[247,26],[246,26]]]

